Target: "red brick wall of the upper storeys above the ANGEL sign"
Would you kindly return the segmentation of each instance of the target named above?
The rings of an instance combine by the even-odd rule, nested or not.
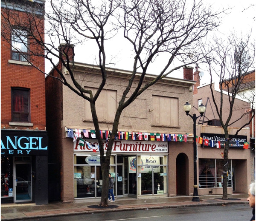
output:
[[[2,13],[6,9],[2,9]],[[15,16],[18,17],[16,20],[12,20],[13,24],[17,26],[23,24],[26,18],[24,12],[15,11]],[[44,20],[42,18],[36,19],[39,23],[41,31],[44,30]],[[6,37],[10,36],[10,30],[8,25],[4,22],[3,16],[1,14],[1,31],[6,34]],[[44,40],[44,37],[43,37]],[[34,130],[45,130],[45,78],[44,74],[36,70],[36,68],[31,65],[20,65],[8,62],[11,59],[11,50],[9,40],[4,39],[1,36],[1,128],[6,129],[30,129]],[[31,42],[32,43],[32,42]],[[31,44],[30,48],[32,51],[37,53],[44,53],[42,48]],[[43,57],[33,57],[33,63],[40,66],[42,71],[44,71],[44,58]],[[22,87],[30,89],[30,114],[31,123],[33,126],[10,126],[9,122],[12,122],[11,113],[11,87]]]

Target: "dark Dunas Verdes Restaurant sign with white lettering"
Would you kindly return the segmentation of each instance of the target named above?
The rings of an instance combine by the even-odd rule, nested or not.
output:
[[[221,147],[224,147],[225,144],[225,135],[224,134],[215,134],[215,133],[201,133],[203,139],[213,140],[215,143],[217,141],[221,142]],[[247,142],[247,136],[237,135],[230,140],[229,147],[244,147],[244,142]],[[216,147],[216,144],[215,144]]]

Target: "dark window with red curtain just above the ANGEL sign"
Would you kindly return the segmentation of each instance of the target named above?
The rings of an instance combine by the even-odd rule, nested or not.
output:
[[[27,88],[12,88],[12,122],[30,122],[30,93]]]

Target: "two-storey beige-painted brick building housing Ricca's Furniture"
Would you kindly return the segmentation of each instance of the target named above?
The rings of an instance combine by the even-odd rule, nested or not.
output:
[[[68,79],[67,70],[62,70]],[[99,87],[99,67],[75,62],[74,70],[76,78],[83,79],[84,88],[95,91]],[[185,78],[186,71],[192,76],[192,70],[185,68]],[[57,76],[55,71],[50,74]],[[109,68],[107,82],[96,101],[105,145],[117,101],[130,75],[129,71]],[[125,108],[110,164],[117,198],[192,195],[193,124],[186,118],[183,105],[192,102],[194,83],[191,79],[163,78]],[[60,174],[52,179],[52,190],[59,189],[59,198],[64,202],[101,197],[99,150],[89,102],[52,77],[46,78],[46,101],[49,165]],[[73,133],[82,140],[74,142]]]

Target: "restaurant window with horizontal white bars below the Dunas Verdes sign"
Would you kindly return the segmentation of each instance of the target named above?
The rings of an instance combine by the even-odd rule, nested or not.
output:
[[[199,188],[223,187],[223,159],[199,159]],[[227,187],[232,187],[232,161],[228,161]]]

